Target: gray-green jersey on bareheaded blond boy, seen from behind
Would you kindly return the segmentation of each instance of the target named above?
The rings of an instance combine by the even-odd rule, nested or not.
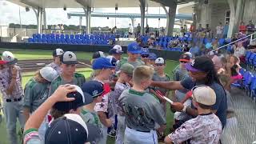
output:
[[[124,90],[118,99],[125,112],[126,126],[138,131],[154,130],[155,122],[166,125],[164,111],[154,95],[135,90]]]

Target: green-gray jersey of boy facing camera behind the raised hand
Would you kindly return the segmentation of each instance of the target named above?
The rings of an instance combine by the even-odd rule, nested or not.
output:
[[[60,85],[71,84],[71,85],[77,85],[79,87],[82,87],[82,84],[84,82],[86,82],[86,78],[83,74],[74,73],[74,77],[71,82],[65,82],[62,79],[62,75],[59,75],[57,78],[54,79],[53,82],[51,82],[49,95],[54,94],[54,91],[57,90],[58,86]]]

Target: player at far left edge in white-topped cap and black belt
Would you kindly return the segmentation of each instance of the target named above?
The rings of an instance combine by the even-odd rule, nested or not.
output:
[[[10,51],[2,53],[2,60],[6,62],[0,70],[0,90],[3,100],[3,112],[6,118],[6,128],[11,144],[18,144],[16,133],[17,118],[20,126],[24,126],[25,118],[22,114],[22,75],[20,68],[15,66],[18,59]]]

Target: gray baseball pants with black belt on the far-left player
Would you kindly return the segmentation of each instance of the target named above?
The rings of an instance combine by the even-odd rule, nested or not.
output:
[[[18,118],[20,126],[24,127],[25,117],[22,110],[22,100],[19,102],[6,102],[6,99],[3,99],[3,113],[6,118],[6,129],[10,144],[20,143],[17,140],[16,122]]]

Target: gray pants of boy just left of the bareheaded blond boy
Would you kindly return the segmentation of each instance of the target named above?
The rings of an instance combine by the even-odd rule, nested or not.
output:
[[[115,144],[123,144],[126,130],[126,117],[118,114],[118,129]]]

